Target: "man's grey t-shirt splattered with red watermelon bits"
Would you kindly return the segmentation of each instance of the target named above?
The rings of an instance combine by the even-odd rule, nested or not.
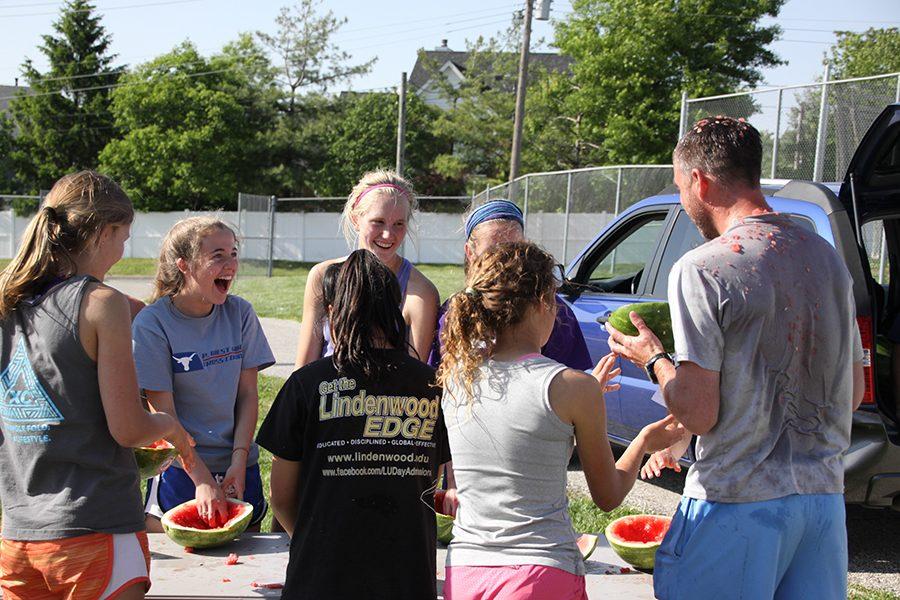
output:
[[[747,217],[669,277],[675,358],[718,371],[718,421],[697,439],[684,495],[755,502],[844,491],[853,282],[837,252],[789,217]]]

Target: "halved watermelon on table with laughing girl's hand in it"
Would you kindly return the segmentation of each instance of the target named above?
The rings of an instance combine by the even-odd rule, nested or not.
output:
[[[228,519],[212,526],[200,517],[197,501],[188,500],[163,515],[162,526],[166,535],[182,546],[211,548],[227,544],[241,535],[253,516],[253,505],[228,498]]]

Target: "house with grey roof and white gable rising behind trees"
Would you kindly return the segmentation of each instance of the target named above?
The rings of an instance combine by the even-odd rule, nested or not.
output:
[[[458,88],[466,79],[466,61],[468,52],[456,52],[447,46],[447,40],[434,50],[419,52],[416,64],[409,76],[409,87],[416,92],[426,104],[438,108],[450,108],[450,101],[445,98],[435,83],[435,74],[429,71],[429,65],[438,65],[437,73]],[[554,52],[532,52],[529,65],[539,65],[548,71],[562,72],[569,69],[572,59]],[[511,90],[513,91],[513,90]],[[514,91],[513,91],[514,93]]]

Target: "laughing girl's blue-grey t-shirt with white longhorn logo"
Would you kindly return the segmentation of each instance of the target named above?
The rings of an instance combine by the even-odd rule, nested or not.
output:
[[[172,392],[178,419],[212,472],[231,465],[238,382],[244,369],[265,369],[275,357],[249,302],[228,296],[205,317],[189,317],[160,298],[132,325],[138,384]],[[248,465],[259,449],[250,444]]]

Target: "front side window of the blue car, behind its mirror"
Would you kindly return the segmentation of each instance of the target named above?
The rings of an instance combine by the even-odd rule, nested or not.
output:
[[[604,244],[585,269],[589,287],[600,292],[635,293],[659,243],[665,219],[666,213],[637,218],[612,244]]]

